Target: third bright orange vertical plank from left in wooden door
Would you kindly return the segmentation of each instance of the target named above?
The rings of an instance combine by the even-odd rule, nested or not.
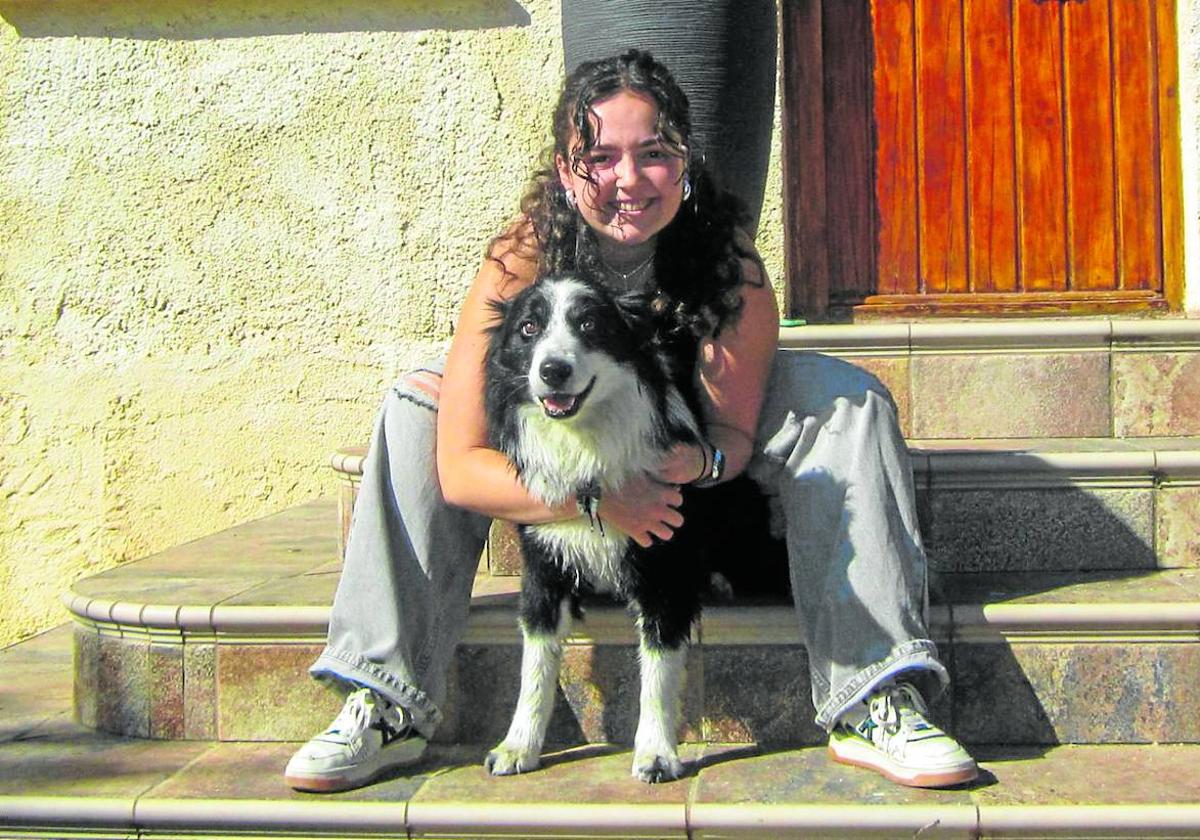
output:
[[[972,292],[1016,290],[1013,19],[1007,2],[966,0],[967,259]]]

